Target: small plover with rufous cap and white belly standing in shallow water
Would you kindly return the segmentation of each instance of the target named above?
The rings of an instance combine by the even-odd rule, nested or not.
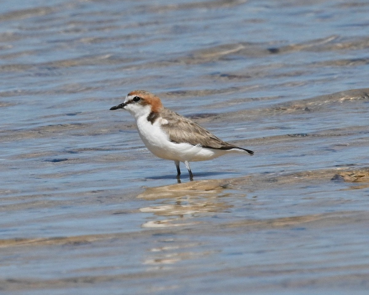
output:
[[[226,143],[192,120],[163,106],[160,98],[145,90],[134,90],[125,101],[110,110],[125,109],[137,123],[138,134],[156,157],[183,162],[193,180],[189,162],[206,161],[230,152],[253,155],[254,152]]]

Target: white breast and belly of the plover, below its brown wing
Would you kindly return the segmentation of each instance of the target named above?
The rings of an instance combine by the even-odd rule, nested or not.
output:
[[[137,120],[139,136],[156,157],[172,161],[205,161],[225,154],[226,151],[203,148],[188,143],[172,143],[168,135],[160,129],[160,124],[156,120],[151,124],[146,118]]]

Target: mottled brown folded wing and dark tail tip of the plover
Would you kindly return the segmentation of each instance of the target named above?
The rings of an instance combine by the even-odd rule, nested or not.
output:
[[[254,154],[252,151],[226,143],[214,134],[211,134],[204,127],[201,127],[199,124],[192,122],[186,117],[178,115],[172,110],[163,108],[162,117],[168,121],[168,124],[163,124],[162,128],[168,134],[169,139],[174,143],[200,144],[202,147],[218,150],[238,148],[247,151],[249,154]]]

